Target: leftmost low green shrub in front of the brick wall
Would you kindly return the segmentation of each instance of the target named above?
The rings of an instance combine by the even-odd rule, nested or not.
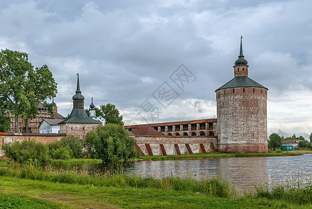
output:
[[[6,157],[19,163],[35,161],[44,164],[49,160],[47,146],[35,140],[24,139],[22,142],[6,143],[3,144],[2,149]]]

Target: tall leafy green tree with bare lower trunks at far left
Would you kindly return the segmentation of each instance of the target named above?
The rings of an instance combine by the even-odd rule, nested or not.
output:
[[[19,132],[18,119],[25,121],[38,114],[38,104],[54,98],[57,93],[56,82],[47,65],[35,68],[28,61],[25,52],[1,49],[0,53],[0,95],[8,111],[15,116],[14,131]]]

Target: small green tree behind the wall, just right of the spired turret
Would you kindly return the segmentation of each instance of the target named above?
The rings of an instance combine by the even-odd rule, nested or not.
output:
[[[120,116],[119,110],[116,108],[115,104],[106,104],[101,105],[100,110],[104,115],[105,123],[115,123],[124,125],[124,122],[122,121],[122,116]]]

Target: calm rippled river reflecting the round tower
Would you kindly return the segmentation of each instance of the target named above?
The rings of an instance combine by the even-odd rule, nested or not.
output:
[[[204,160],[139,161],[124,164],[126,173],[142,176],[193,176],[215,177],[229,180],[239,191],[252,190],[254,185],[285,181],[297,178],[302,181],[312,174],[312,155],[289,157],[232,157]],[[88,169],[107,169],[110,164],[81,164]]]

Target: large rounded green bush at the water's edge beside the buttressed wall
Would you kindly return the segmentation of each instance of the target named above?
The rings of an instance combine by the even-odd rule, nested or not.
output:
[[[90,157],[104,162],[116,162],[138,157],[136,141],[120,124],[107,123],[85,136],[85,150]]]

